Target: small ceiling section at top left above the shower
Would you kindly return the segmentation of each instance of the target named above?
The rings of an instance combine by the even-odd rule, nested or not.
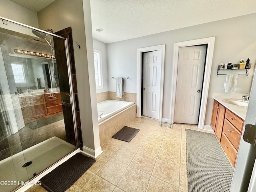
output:
[[[38,12],[41,9],[48,6],[50,3],[55,0],[10,0],[16,4],[19,4],[23,7],[26,7],[34,12]]]

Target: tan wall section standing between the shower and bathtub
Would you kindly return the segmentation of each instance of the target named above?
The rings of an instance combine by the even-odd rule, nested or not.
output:
[[[85,3],[84,5],[83,2]],[[85,30],[84,12],[90,13],[89,0],[75,0],[72,3],[70,3],[70,0],[56,0],[38,12],[38,23],[40,29],[53,28],[55,32],[71,26],[73,44],[76,45],[77,41],[81,46],[80,49],[74,46],[74,57],[83,144],[87,148],[96,150],[100,147],[100,138],[98,133],[93,45],[90,27],[91,18],[90,14],[85,16],[88,23],[87,32]]]

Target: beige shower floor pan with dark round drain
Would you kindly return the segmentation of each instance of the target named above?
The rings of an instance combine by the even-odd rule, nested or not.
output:
[[[76,146],[54,136],[22,152],[0,161],[0,181],[10,181],[13,185],[1,185],[1,192],[9,192],[39,174],[70,152]],[[29,166],[24,166],[32,162]],[[16,184],[16,185],[14,185]]]

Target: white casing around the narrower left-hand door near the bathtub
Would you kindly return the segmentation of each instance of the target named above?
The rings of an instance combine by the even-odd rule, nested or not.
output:
[[[164,88],[164,56],[165,56],[165,44],[156,45],[137,49],[137,117],[141,117],[141,83],[142,83],[142,52],[149,51],[162,51],[162,62],[161,62],[161,80],[160,80],[160,103],[159,103],[159,118],[158,121],[162,121],[162,103],[163,103],[163,88]]]

